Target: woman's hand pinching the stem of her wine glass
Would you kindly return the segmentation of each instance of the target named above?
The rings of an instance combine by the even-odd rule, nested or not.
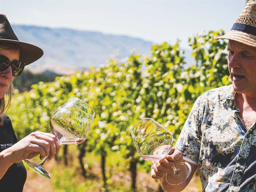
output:
[[[60,147],[61,144],[55,135],[36,131],[3,152],[8,153],[9,161],[18,163],[23,159],[31,159],[38,154],[40,154],[40,159],[46,156],[52,159],[54,155],[59,153]]]

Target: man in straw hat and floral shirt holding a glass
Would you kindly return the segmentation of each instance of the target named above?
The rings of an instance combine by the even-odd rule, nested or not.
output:
[[[256,191],[256,2],[248,1],[230,32],[228,68],[232,85],[212,89],[195,102],[166,158],[152,163],[151,176],[166,191],[182,191],[199,169],[203,191]],[[175,162],[187,161],[190,177],[169,185]]]

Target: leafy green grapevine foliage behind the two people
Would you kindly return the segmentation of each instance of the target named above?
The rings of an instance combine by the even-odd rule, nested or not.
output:
[[[80,154],[94,151],[104,159],[107,151],[112,150],[127,160],[132,173],[138,162],[144,163],[149,171],[150,162],[140,159],[132,143],[132,126],[144,117],[151,117],[177,139],[196,98],[206,90],[231,83],[227,43],[213,38],[223,33],[209,31],[189,38],[196,65],[187,68],[179,41],[174,45],[164,42],[152,46],[151,56],[136,55],[132,50],[132,55],[123,60],[112,59],[84,73],[40,82],[29,92],[15,91],[7,113],[15,133],[21,139],[36,130],[51,132],[51,114],[72,97],[78,97],[96,113],[87,141],[78,145]],[[109,178],[103,178],[107,184]],[[136,178],[132,179],[135,188]]]

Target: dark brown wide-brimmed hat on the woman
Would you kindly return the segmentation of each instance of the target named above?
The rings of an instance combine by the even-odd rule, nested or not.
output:
[[[0,14],[0,42],[17,44],[20,47],[20,61],[25,62],[25,65],[33,63],[44,54],[40,47],[19,41],[6,15],[4,14]]]

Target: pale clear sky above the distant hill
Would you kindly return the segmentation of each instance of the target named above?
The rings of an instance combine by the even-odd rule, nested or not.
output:
[[[139,37],[161,43],[201,31],[229,31],[246,0],[232,1],[10,1],[0,12],[12,24],[65,27]]]

